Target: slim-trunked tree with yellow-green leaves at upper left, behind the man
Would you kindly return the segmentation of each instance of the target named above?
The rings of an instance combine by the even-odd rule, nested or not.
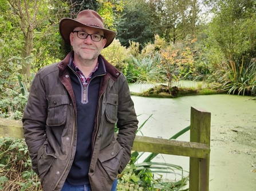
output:
[[[30,76],[31,58],[34,48],[34,37],[36,32],[40,33],[44,31],[46,33],[56,25],[58,18],[61,17],[62,9],[59,9],[61,2],[54,0],[7,0],[8,9],[6,14],[10,15],[10,22],[13,26],[18,27],[22,32],[22,48],[21,57],[22,62],[22,74],[26,74],[27,78]],[[55,9],[55,8],[58,9]],[[54,15],[54,16],[53,16]],[[40,38],[38,38],[40,40]]]

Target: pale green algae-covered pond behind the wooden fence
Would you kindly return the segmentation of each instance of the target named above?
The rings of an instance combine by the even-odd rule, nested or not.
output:
[[[130,84],[129,87],[132,92],[141,92],[152,85]],[[140,115],[139,125],[152,114],[141,129],[144,136],[169,139],[190,125],[191,107],[211,113],[210,191],[253,191],[256,188],[256,101],[252,98],[237,95],[174,99],[132,96],[136,113]],[[189,141],[189,132],[178,140]],[[189,170],[188,157],[158,155],[154,160]]]

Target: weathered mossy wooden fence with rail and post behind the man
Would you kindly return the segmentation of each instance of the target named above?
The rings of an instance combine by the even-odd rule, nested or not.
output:
[[[209,190],[211,113],[191,107],[190,142],[136,136],[133,150],[190,157],[189,190]],[[23,138],[21,121],[0,118],[0,136]]]

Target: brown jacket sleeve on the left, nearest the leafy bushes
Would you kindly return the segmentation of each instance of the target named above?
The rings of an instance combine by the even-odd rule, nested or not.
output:
[[[32,169],[38,174],[37,152],[45,142],[45,125],[48,101],[40,71],[31,84],[29,98],[22,118],[23,135],[32,161]]]

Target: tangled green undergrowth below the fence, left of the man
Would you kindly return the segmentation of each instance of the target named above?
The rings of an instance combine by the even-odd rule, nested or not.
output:
[[[0,137],[0,190],[42,190],[24,139]]]

